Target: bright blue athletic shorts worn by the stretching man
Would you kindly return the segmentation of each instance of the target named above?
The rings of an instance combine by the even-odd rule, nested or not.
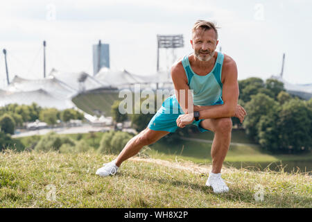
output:
[[[148,128],[151,130],[163,130],[173,133],[178,128],[176,121],[180,114],[184,114],[182,108],[175,96],[170,96],[162,103],[162,107],[159,108],[154,117],[150,119]],[[209,131],[200,127],[200,122],[203,120],[204,119],[200,119],[199,121],[194,120],[192,124],[196,125],[200,132]]]

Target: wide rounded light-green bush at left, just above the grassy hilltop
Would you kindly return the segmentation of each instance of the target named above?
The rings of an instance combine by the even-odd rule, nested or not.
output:
[[[57,135],[55,132],[50,132],[44,135],[35,146],[35,151],[59,151],[63,144],[75,146],[73,139]]]

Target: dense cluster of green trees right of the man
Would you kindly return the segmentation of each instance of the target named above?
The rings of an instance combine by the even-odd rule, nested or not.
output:
[[[288,94],[284,83],[269,78],[239,81],[239,104],[248,115],[245,133],[268,151],[302,153],[312,147],[312,99]],[[240,125],[235,118],[233,123]]]

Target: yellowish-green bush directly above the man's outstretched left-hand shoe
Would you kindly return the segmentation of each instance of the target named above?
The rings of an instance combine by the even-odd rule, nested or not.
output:
[[[118,154],[123,150],[123,147],[131,138],[132,136],[129,133],[121,131],[110,131],[104,133],[98,152],[105,154]]]

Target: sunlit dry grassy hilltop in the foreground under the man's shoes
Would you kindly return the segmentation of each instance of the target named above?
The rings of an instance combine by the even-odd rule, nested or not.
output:
[[[209,164],[136,157],[115,176],[96,176],[114,157],[3,151],[0,207],[312,207],[307,174],[225,168],[229,192],[214,194],[205,187]],[[55,200],[46,198],[48,185],[55,186]],[[263,201],[254,199],[257,185]]]

